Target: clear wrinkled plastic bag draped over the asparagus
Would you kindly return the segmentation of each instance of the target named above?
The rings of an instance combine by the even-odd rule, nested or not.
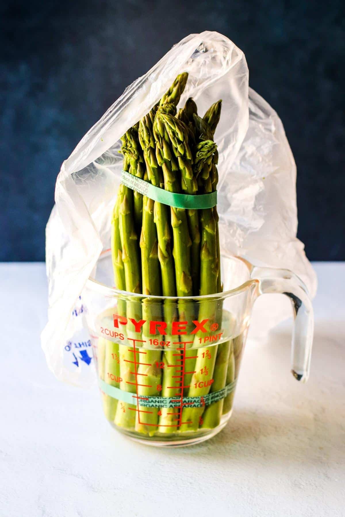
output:
[[[221,252],[257,266],[290,269],[311,296],[316,292],[316,276],[296,239],[296,166],[282,123],[248,88],[245,56],[232,41],[215,32],[190,35],[126,88],[57,177],[56,205],[46,229],[49,313],[42,347],[49,368],[62,381],[89,383],[85,352],[76,348],[74,362],[66,361],[66,354],[74,354],[73,345],[89,346],[82,291],[101,251],[110,247],[111,211],[122,170],[119,138],[183,71],[189,77],[179,105],[193,97],[203,114],[216,100],[223,101],[215,134]],[[273,314],[270,325],[286,316]]]

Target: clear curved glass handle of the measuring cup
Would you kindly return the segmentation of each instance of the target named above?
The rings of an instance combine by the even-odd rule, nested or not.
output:
[[[291,344],[292,374],[297,381],[309,376],[314,316],[305,284],[288,269],[253,267],[251,278],[259,280],[259,295],[281,293],[292,303],[294,327]]]

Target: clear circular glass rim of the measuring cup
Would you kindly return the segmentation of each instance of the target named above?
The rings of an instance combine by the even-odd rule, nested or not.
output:
[[[98,260],[100,258],[105,258],[107,255],[111,254],[111,250],[104,250],[101,252],[101,254],[98,257]],[[103,256],[102,256],[103,255]],[[252,268],[252,265],[246,261],[242,257],[238,256],[227,256],[224,255],[227,258],[230,258],[231,260],[241,262],[244,264],[248,269],[248,275],[250,276],[250,269]],[[214,294],[206,294],[206,295],[198,295],[198,296],[163,296],[163,295],[144,295],[143,293],[130,293],[129,291],[122,291],[121,289],[117,289],[116,287],[110,287],[109,285],[103,284],[102,282],[99,282],[95,278],[92,278],[91,276],[88,277],[86,281],[85,287],[90,288],[92,291],[97,291],[100,294],[103,294],[104,296],[112,296],[112,297],[132,297],[132,298],[142,298],[142,299],[153,299],[153,300],[193,300],[193,301],[201,301],[206,299],[220,299],[220,298],[227,298],[229,296],[235,296],[236,294],[243,293],[246,291],[251,285],[257,284],[259,280],[255,278],[249,278],[242,284],[238,285],[237,287],[234,287],[233,289],[230,289],[228,291],[222,291],[220,293],[214,293]]]

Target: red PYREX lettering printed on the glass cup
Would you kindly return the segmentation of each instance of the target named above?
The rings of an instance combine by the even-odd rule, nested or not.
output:
[[[141,332],[142,326],[146,323],[147,320],[139,320],[138,322],[134,320],[134,318],[126,318],[125,316],[119,316],[118,314],[113,314],[114,319],[114,327],[119,328],[119,325],[127,325],[128,320],[133,324],[135,332]],[[205,329],[205,325],[208,322],[207,320],[202,320],[199,322],[198,320],[193,320],[192,323],[194,325],[194,329],[192,331],[187,332],[188,322],[172,322],[171,324],[171,332],[172,336],[181,336],[182,334],[196,334],[197,332],[207,332]],[[149,323],[149,333],[153,336],[160,334],[161,336],[167,336],[166,328],[167,323],[162,321],[150,321]]]

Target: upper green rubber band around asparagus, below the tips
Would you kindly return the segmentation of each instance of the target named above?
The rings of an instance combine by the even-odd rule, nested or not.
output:
[[[147,181],[133,176],[129,172],[122,171],[121,183],[129,189],[136,190],[154,201],[163,205],[174,206],[176,208],[201,209],[212,208],[217,204],[217,191],[209,194],[175,194],[168,190],[160,189]]]

